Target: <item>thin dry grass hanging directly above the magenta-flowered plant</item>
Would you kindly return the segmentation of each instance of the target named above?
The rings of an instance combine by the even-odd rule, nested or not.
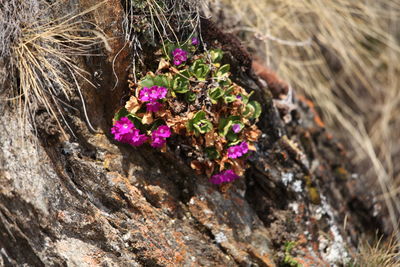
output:
[[[126,17],[123,22],[125,40],[134,53],[133,76],[141,62],[140,51],[145,40],[154,47],[161,41],[184,43],[195,35],[200,22],[200,9],[205,0],[131,0],[125,3]],[[140,36],[140,38],[139,38]],[[139,40],[140,39],[140,40]],[[117,77],[116,77],[117,78]]]

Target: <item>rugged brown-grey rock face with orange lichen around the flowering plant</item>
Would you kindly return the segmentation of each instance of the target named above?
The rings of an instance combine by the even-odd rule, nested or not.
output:
[[[92,19],[119,37],[123,14],[109,0]],[[99,87],[81,84],[97,133],[82,110],[70,110],[75,138],[54,134],[46,112],[36,115],[37,133],[22,134],[18,114],[0,106],[0,266],[341,265],[361,234],[379,227],[313,104],[291,90],[271,94],[234,37],[207,20],[202,29],[205,42],[228,51],[237,82],[264,103],[245,179],[217,187],[173,151],[112,140],[131,56],[113,39],[106,57],[85,62],[102,73]]]

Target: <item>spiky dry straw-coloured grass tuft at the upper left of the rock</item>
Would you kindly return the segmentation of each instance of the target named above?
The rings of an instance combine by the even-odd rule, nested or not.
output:
[[[62,122],[69,126],[63,107],[75,90],[85,110],[77,81],[88,81],[87,73],[78,66],[76,57],[93,56],[94,49],[105,40],[95,25],[83,20],[85,14],[102,3],[67,15],[58,13],[61,4],[66,2],[49,5],[42,0],[11,0],[1,9],[3,36],[0,39],[6,48],[0,52],[10,69],[17,73],[18,88],[11,100],[19,107],[23,130],[35,111],[44,108],[65,134]],[[71,129],[70,132],[73,134]]]

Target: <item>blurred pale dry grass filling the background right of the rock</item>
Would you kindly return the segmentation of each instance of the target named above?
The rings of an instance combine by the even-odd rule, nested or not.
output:
[[[214,0],[211,15],[298,92],[351,146],[393,228],[400,214],[399,0]],[[221,21],[220,21],[221,22]]]

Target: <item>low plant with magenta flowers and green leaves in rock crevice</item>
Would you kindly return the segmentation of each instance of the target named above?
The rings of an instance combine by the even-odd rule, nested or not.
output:
[[[230,80],[219,49],[199,52],[195,37],[166,44],[158,69],[133,88],[115,115],[114,138],[132,146],[150,143],[166,151],[183,147],[184,156],[210,182],[232,182],[244,174],[260,131],[261,105]]]

